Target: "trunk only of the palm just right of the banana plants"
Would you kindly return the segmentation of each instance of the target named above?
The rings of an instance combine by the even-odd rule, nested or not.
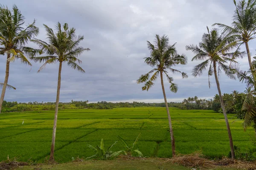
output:
[[[167,111],[168,121],[169,121],[170,136],[171,136],[171,142],[172,142],[172,156],[175,156],[175,139],[174,139],[173,130],[172,130],[172,120],[171,120],[169,107],[168,107],[168,103],[167,103],[167,99],[166,99],[166,94],[165,94],[165,90],[164,90],[164,85],[163,85],[163,72],[162,71],[160,71],[160,76],[161,76],[161,85],[162,85],[162,89],[163,89],[163,98],[164,98],[164,102],[166,104],[166,111]]]

